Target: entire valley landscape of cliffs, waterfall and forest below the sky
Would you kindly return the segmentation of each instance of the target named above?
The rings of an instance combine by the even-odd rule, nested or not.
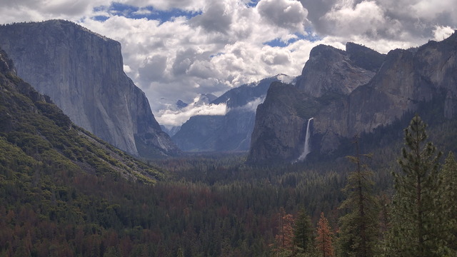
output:
[[[174,136],[119,42],[63,20],[0,35],[0,256],[457,253],[456,33],[318,45]]]

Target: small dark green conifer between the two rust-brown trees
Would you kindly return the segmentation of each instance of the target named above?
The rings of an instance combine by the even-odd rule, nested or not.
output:
[[[311,226],[311,218],[304,209],[301,209],[295,221],[293,243],[298,248],[298,253],[311,253],[313,251],[313,227]]]

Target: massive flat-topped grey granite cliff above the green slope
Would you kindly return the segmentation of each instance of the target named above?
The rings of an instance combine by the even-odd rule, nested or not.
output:
[[[0,47],[76,125],[135,156],[179,152],[124,73],[119,42],[53,20],[0,26]]]

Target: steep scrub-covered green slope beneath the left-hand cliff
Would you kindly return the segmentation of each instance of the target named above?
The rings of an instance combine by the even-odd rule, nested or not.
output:
[[[39,169],[123,176],[143,183],[164,176],[71,123],[49,97],[16,76],[13,62],[1,50],[0,177]]]

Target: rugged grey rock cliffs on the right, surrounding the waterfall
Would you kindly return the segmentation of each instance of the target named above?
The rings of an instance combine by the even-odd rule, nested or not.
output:
[[[456,33],[386,56],[356,44],[346,52],[316,46],[296,87],[268,91],[258,107],[248,161],[294,161],[311,117],[311,150],[327,154],[342,138],[392,124],[435,97],[444,99],[443,116],[456,118]]]

